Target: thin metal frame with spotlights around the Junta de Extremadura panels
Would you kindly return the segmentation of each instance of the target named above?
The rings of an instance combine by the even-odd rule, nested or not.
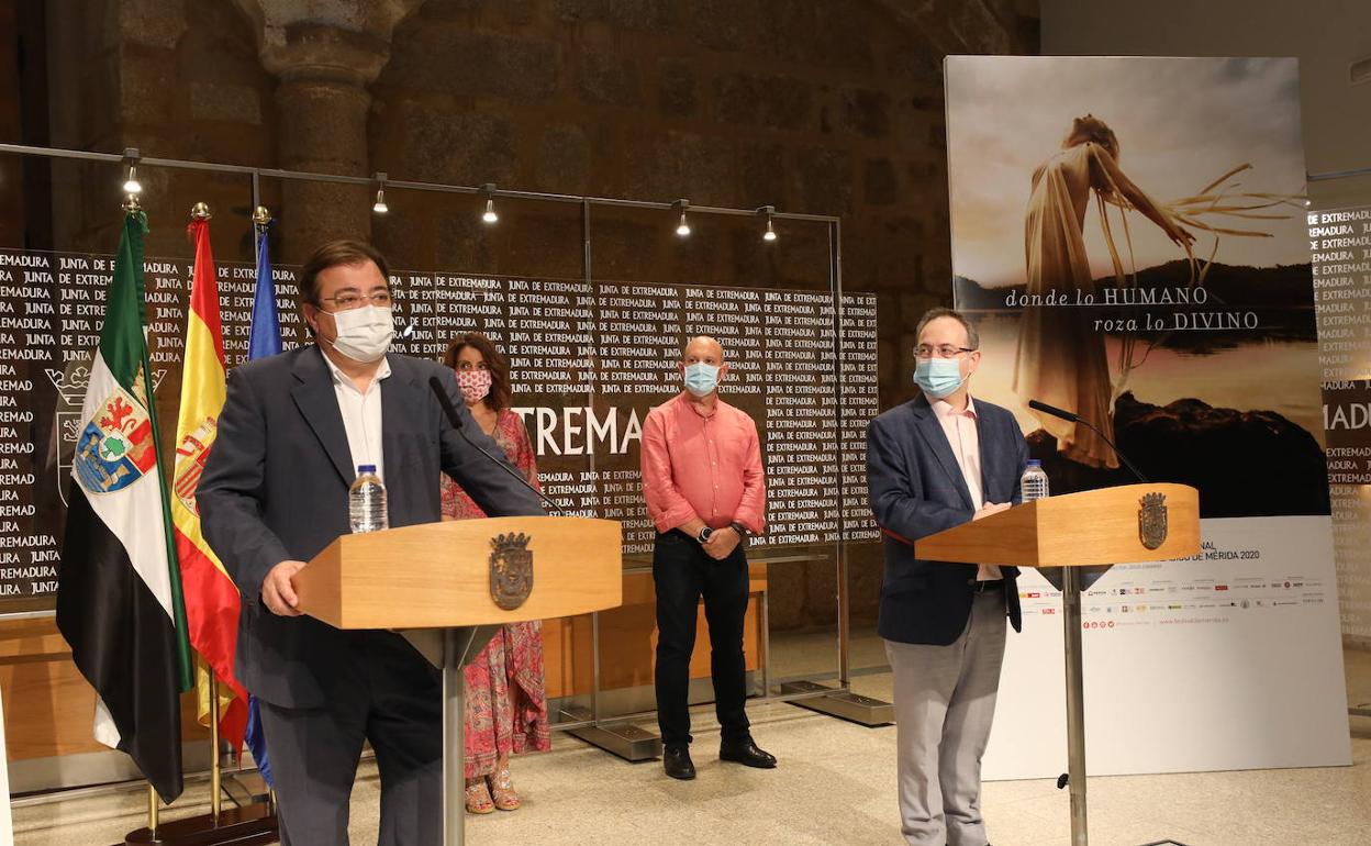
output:
[[[75,159],[88,162],[104,162],[111,165],[119,165],[125,162],[133,162],[140,167],[166,167],[171,170],[192,170],[192,171],[211,171],[221,174],[239,174],[250,181],[251,191],[251,207],[255,208],[260,204],[260,180],[276,178],[276,180],[298,180],[298,181],[313,181],[313,182],[329,182],[340,185],[359,185],[359,186],[374,186],[377,185],[377,177],[355,177],[343,174],[325,174],[325,173],[307,173],[298,170],[281,170],[274,167],[252,167],[245,165],[222,165],[213,162],[195,162],[186,159],[166,159],[155,156],[143,156],[137,148],[128,148],[122,154],[107,154],[107,152],[89,152],[81,149],[62,149],[49,147],[32,147],[21,144],[0,144],[0,155],[26,155],[26,156],[41,156],[48,159]],[[422,191],[422,192],[437,192],[437,193],[457,193],[457,195],[478,195],[488,196],[502,200],[528,200],[528,202],[543,202],[543,203],[574,203],[581,208],[581,237],[583,237],[583,277],[587,282],[594,282],[592,274],[592,239],[591,239],[591,210],[592,207],[618,207],[618,208],[638,208],[643,211],[670,211],[676,208],[675,202],[654,202],[654,200],[628,200],[616,197],[596,197],[596,196],[576,196],[563,193],[548,193],[537,191],[513,191],[500,189],[491,186],[472,186],[472,185],[447,185],[440,182],[417,182],[393,180],[388,176],[384,177],[384,184],[387,188],[396,188],[404,191]],[[723,217],[750,217],[755,218],[760,215],[757,208],[728,208],[717,206],[690,206],[691,214],[705,214],[705,215],[723,215]],[[771,218],[784,219],[784,221],[802,221],[812,223],[824,223],[827,228],[828,237],[828,282],[829,295],[834,304],[834,361],[839,361],[842,355],[842,222],[838,217],[832,215],[816,215],[816,214],[795,214],[783,211],[768,211]],[[255,244],[255,241],[254,241]],[[255,250],[255,247],[254,247]],[[598,366],[598,359],[596,359]],[[846,446],[846,437],[843,432],[843,396],[845,396],[845,383],[842,367],[836,367],[835,380],[835,428],[838,432],[836,450],[838,450],[838,479],[839,490],[843,483],[843,468],[842,468],[842,454]],[[590,469],[594,470],[594,454],[590,455]],[[839,496],[842,503],[842,496]],[[839,518],[842,520],[842,505],[839,505]],[[790,702],[790,701],[806,701],[823,697],[831,697],[834,694],[850,694],[850,680],[849,680],[849,570],[847,570],[847,542],[845,533],[839,532],[838,543],[835,544],[835,570],[836,570],[836,602],[838,602],[838,687],[823,687],[809,684],[803,690],[781,691],[779,694],[772,694],[769,687],[769,673],[765,666],[771,662],[769,650],[769,631],[764,632],[766,636],[765,649],[765,664],[764,664],[764,679],[766,680],[766,687],[764,687],[764,695],[758,698],[764,702]],[[768,558],[765,555],[758,557],[753,561],[766,562],[772,561],[775,557]],[[781,555],[786,559],[790,557]],[[792,559],[792,558],[790,558]],[[625,573],[639,572],[633,568],[624,570]],[[37,617],[51,617],[55,616],[53,610],[26,610],[14,613],[0,613],[0,620],[21,620],[21,618],[37,618]],[[761,617],[764,625],[769,627],[769,618],[766,616],[765,607],[761,609]],[[591,616],[591,650],[592,650],[592,690],[591,690],[591,713],[584,720],[562,721],[553,725],[554,729],[572,731],[581,728],[599,728],[603,725],[622,724],[633,720],[642,720],[650,717],[655,712],[639,712],[632,714],[617,714],[613,717],[605,717],[600,713],[600,658],[599,658],[599,614]],[[584,695],[584,694],[573,694]],[[817,708],[818,710],[825,710]],[[832,713],[832,712],[829,712]]]

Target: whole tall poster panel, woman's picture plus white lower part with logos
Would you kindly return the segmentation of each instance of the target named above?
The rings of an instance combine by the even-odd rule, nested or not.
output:
[[[1200,490],[1198,557],[1083,596],[1090,771],[1349,764],[1296,60],[946,70],[972,394],[1016,414],[1053,494],[1132,481],[1105,437]],[[1064,769],[1060,594],[1019,587],[993,779]]]

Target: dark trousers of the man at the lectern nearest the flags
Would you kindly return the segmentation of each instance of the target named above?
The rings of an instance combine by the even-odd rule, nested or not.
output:
[[[324,708],[262,702],[282,846],[345,846],[362,742],[381,773],[381,846],[443,841],[443,697],[437,668],[400,635],[348,636]]]

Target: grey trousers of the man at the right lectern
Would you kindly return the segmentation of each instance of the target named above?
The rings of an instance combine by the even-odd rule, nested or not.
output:
[[[1005,660],[1005,596],[976,594],[949,646],[886,640],[895,675],[901,832],[910,846],[986,846],[980,758]]]

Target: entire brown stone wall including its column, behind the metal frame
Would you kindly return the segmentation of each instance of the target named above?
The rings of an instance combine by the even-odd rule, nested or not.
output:
[[[912,396],[910,329],[950,299],[942,58],[1036,52],[1031,0],[53,0],[59,147],[352,176],[840,215],[842,281],[880,299],[882,406]],[[56,59],[62,56],[63,59]],[[84,56],[81,62],[71,56]],[[149,254],[185,252],[196,200],[215,251],[250,258],[245,180],[151,170]],[[53,171],[58,248],[108,250],[110,166]],[[276,255],[373,234],[398,266],[580,276],[579,204],[263,182]],[[171,219],[167,219],[167,218]],[[596,210],[600,278],[828,287],[827,226]],[[370,232],[369,232],[370,230]],[[875,616],[875,550],[853,568]],[[792,565],[776,627],[835,618],[832,568]],[[802,572],[802,575],[801,575]]]

